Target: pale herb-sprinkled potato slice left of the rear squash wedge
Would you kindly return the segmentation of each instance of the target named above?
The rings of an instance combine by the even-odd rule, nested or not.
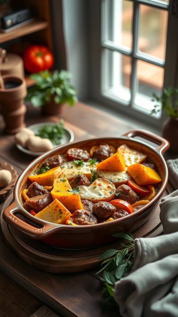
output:
[[[72,180],[76,175],[84,174],[89,180],[92,177],[92,171],[95,165],[89,162],[83,162],[83,165],[76,165],[74,162],[67,162],[61,165],[61,178],[67,178],[68,181]]]

